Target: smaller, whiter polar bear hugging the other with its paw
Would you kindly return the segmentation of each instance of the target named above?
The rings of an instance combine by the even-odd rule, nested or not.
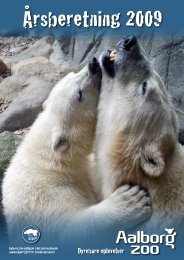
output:
[[[60,235],[69,236],[69,229],[82,236],[119,223],[136,225],[150,216],[149,198],[138,187],[121,187],[100,203],[95,199],[88,156],[95,138],[100,83],[95,58],[63,78],[18,148],[2,186],[14,243],[27,225],[38,226],[42,239],[53,233],[56,242]]]

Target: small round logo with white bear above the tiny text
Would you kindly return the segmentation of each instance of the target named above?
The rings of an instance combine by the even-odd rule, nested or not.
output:
[[[22,230],[22,238],[26,243],[34,244],[40,239],[40,230],[37,226],[29,225]]]

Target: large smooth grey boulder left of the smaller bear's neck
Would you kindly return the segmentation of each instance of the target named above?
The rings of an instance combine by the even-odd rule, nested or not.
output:
[[[0,114],[0,133],[30,126],[42,110],[42,103],[53,86],[53,83],[31,77],[27,82],[27,87]]]

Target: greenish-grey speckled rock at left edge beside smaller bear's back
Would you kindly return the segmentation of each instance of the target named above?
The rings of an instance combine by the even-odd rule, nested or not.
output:
[[[0,179],[2,179],[3,173],[21,140],[22,137],[11,132],[0,134]]]

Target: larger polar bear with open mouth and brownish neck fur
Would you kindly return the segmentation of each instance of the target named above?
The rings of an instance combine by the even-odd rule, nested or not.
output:
[[[115,58],[115,61],[113,59]],[[134,36],[101,55],[96,163],[105,199],[120,185],[148,189],[145,229],[184,228],[184,147],[170,96]]]

